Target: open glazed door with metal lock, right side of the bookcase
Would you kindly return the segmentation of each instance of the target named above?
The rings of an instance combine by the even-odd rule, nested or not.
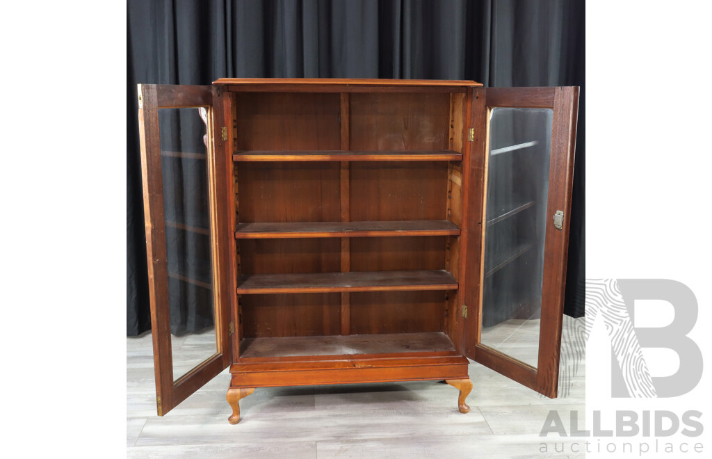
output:
[[[553,398],[578,88],[476,88],[472,106],[466,356]]]

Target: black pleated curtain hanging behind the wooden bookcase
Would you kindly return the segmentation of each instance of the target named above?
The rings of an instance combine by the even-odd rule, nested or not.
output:
[[[581,87],[565,312],[584,313],[583,0],[129,0],[127,335],[150,329],[137,83],[423,78]]]

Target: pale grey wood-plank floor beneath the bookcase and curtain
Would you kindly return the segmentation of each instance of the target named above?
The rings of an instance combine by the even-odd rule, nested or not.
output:
[[[156,416],[151,335],[127,338],[129,458],[575,458],[571,441],[540,431],[550,411],[565,426],[585,413],[583,317],[565,316],[559,397],[548,399],[470,364],[471,411],[436,381],[256,389],[231,414],[226,369],[166,416]],[[505,327],[503,337],[511,334]],[[496,334],[493,334],[496,339]],[[511,341],[511,339],[510,339]],[[521,339],[518,346],[530,348]],[[173,347],[191,344],[176,340]],[[543,448],[546,452],[542,453]],[[577,450],[577,448],[574,448]]]

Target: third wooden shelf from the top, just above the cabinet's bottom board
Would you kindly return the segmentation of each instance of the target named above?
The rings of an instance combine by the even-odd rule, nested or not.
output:
[[[395,290],[457,290],[446,270],[360,271],[241,275],[237,293],[377,292]]]

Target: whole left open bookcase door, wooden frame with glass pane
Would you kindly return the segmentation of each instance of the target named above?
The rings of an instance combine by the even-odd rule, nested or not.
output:
[[[139,85],[158,416],[231,362],[221,90]]]

